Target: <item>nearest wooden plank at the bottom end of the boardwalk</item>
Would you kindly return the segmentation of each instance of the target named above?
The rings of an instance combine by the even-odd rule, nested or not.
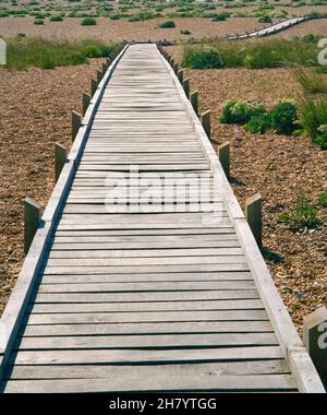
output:
[[[58,379],[58,380],[12,380],[5,384],[4,392],[154,392],[154,391],[295,391],[294,379],[289,375],[269,376],[181,376],[178,372],[169,376],[158,374],[152,377],[140,377],[137,368],[119,378],[106,379]]]

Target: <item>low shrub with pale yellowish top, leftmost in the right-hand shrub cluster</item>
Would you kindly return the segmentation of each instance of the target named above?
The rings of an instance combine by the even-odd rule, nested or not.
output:
[[[252,117],[261,117],[265,114],[266,109],[263,104],[228,100],[222,108],[220,122],[244,124],[250,122]]]

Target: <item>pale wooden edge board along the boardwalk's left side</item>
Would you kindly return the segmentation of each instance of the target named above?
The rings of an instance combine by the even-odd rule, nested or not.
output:
[[[66,195],[75,174],[75,169],[83,154],[94,117],[101,102],[106,86],[118,62],[129,46],[129,44],[125,45],[118,54],[117,58],[112,61],[90,100],[88,109],[82,120],[82,126],[68,156],[68,161],[61,170],[60,177],[40,220],[32,246],[26,254],[15,287],[0,319],[0,379],[2,378],[4,366],[20,330],[22,317],[24,316],[35,281],[37,280],[37,275],[43,264],[43,259],[51,232],[57,225],[56,222],[58,220],[61,204]]]

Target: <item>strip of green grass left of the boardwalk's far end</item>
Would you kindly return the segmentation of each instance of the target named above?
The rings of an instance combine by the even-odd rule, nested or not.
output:
[[[7,68],[25,70],[29,67],[51,69],[86,63],[88,58],[113,56],[119,44],[99,40],[46,40],[43,38],[8,38]]]

